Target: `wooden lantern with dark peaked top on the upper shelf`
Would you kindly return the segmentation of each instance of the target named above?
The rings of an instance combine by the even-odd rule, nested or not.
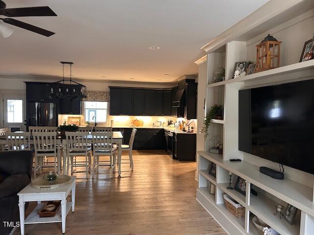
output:
[[[267,37],[256,46],[256,72],[271,70],[279,67],[281,43],[282,42],[268,34]]]

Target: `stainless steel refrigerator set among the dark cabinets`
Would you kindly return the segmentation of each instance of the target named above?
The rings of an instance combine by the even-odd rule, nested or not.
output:
[[[55,103],[28,102],[28,126],[57,126],[57,112]]]

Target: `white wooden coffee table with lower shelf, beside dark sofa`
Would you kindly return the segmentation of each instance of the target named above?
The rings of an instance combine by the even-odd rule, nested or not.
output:
[[[62,188],[55,189],[36,189],[27,185],[19,193],[19,207],[20,207],[20,227],[21,235],[24,235],[24,224],[41,224],[41,223],[62,223],[62,234],[65,233],[65,219],[72,207],[72,212],[75,209],[75,178],[71,176],[71,183]],[[67,202],[67,196],[72,191],[72,201]],[[40,218],[38,211],[41,211],[45,207],[45,203],[41,201],[54,201],[61,200],[61,210],[57,211],[54,217]],[[25,217],[25,202],[38,202],[37,207]]]

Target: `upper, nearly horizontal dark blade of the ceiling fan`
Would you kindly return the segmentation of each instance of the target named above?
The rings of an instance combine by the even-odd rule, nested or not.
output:
[[[7,17],[19,16],[56,16],[49,6],[4,8],[0,9],[0,15]]]

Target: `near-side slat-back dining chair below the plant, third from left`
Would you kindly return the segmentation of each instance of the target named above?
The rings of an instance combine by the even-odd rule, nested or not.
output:
[[[85,164],[76,166],[85,166],[86,167],[86,178],[88,176],[88,167],[91,165],[91,153],[92,148],[87,145],[87,136],[88,132],[65,132],[66,137],[66,148],[67,148],[67,174],[69,174],[70,162],[71,162],[71,174],[73,174],[75,156],[84,156]]]

